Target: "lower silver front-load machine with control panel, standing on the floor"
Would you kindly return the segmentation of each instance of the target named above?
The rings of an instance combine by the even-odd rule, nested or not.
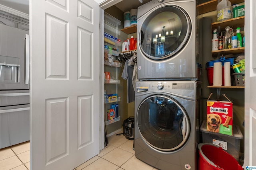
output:
[[[199,89],[194,80],[136,82],[138,159],[161,170],[196,170]]]

